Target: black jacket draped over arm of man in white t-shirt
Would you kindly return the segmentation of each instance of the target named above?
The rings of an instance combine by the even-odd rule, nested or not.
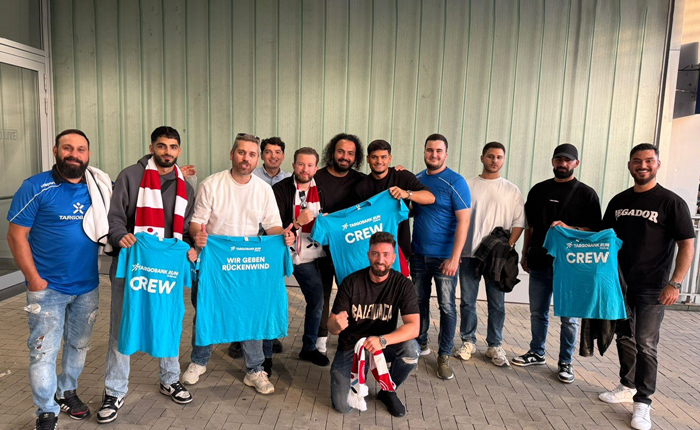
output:
[[[474,258],[480,261],[477,275],[483,275],[486,281],[498,282],[498,288],[505,293],[513,291],[520,282],[518,252],[510,246],[509,240],[510,232],[496,227],[474,251]]]

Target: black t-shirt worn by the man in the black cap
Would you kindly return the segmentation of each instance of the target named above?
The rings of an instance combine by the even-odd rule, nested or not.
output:
[[[525,202],[527,225],[533,229],[530,247],[544,244],[549,226],[554,221],[563,221],[573,227],[599,230],[601,210],[598,194],[583,182],[579,183],[564,212],[559,216],[566,197],[577,182],[579,180],[576,178],[567,182],[548,179],[532,187]]]

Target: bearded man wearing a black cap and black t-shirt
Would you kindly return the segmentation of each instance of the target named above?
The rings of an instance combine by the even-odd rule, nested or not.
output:
[[[552,257],[542,246],[550,227],[595,231],[601,222],[600,201],[593,188],[574,177],[579,166],[578,150],[564,143],[554,150],[554,178],[536,184],[527,195],[525,216],[528,228],[521,265],[530,273],[530,350],[512,363],[516,366],[545,364],[545,342],[552,300]],[[563,383],[574,382],[571,364],[576,349],[579,321],[561,317],[558,377]]]

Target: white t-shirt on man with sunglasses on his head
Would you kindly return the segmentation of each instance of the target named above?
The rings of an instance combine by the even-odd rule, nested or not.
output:
[[[272,188],[254,175],[239,184],[230,170],[202,181],[191,222],[206,224],[207,234],[223,236],[257,236],[260,224],[265,230],[282,227]]]

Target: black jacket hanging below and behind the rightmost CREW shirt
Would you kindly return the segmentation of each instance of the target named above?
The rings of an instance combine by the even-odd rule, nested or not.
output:
[[[627,303],[627,283],[619,267],[618,272],[620,275],[622,297],[625,298],[625,308],[627,310],[627,315],[629,315],[630,307]],[[605,354],[605,351],[608,350],[616,334],[620,337],[630,337],[632,335],[629,319],[616,321],[582,319],[579,355],[582,357],[591,357],[595,353],[595,347],[597,345],[598,352],[602,356]]]

